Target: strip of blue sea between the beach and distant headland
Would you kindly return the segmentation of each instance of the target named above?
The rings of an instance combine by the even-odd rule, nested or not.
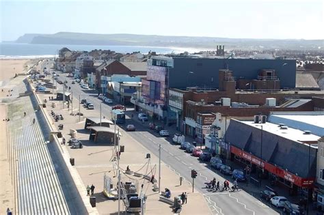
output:
[[[94,49],[111,50],[117,53],[133,53],[139,51],[146,54],[155,51],[159,54],[183,53],[191,51],[190,48],[148,47],[148,46],[95,46],[95,45],[69,45],[69,44],[22,44],[0,43],[0,59],[33,59],[55,57],[59,49],[66,47],[72,51],[92,51]]]

